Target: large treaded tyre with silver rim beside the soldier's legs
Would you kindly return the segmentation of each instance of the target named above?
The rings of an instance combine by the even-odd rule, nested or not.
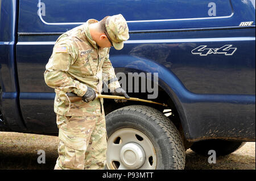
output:
[[[106,116],[108,169],[184,169],[185,150],[175,125],[148,106],[127,106]]]

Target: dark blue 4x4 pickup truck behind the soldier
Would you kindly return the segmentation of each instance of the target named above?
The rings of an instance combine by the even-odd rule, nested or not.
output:
[[[58,133],[43,76],[53,45],[114,14],[130,34],[110,50],[119,82],[132,75],[131,97],[168,108],[104,99],[108,169],[184,169],[189,148],[218,156],[255,141],[255,0],[0,0],[1,131]]]

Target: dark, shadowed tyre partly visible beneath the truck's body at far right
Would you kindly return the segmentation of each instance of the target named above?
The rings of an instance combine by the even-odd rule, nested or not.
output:
[[[209,150],[216,151],[217,156],[224,156],[240,149],[246,142],[226,140],[204,140],[195,142],[191,150],[201,155],[208,155]]]

